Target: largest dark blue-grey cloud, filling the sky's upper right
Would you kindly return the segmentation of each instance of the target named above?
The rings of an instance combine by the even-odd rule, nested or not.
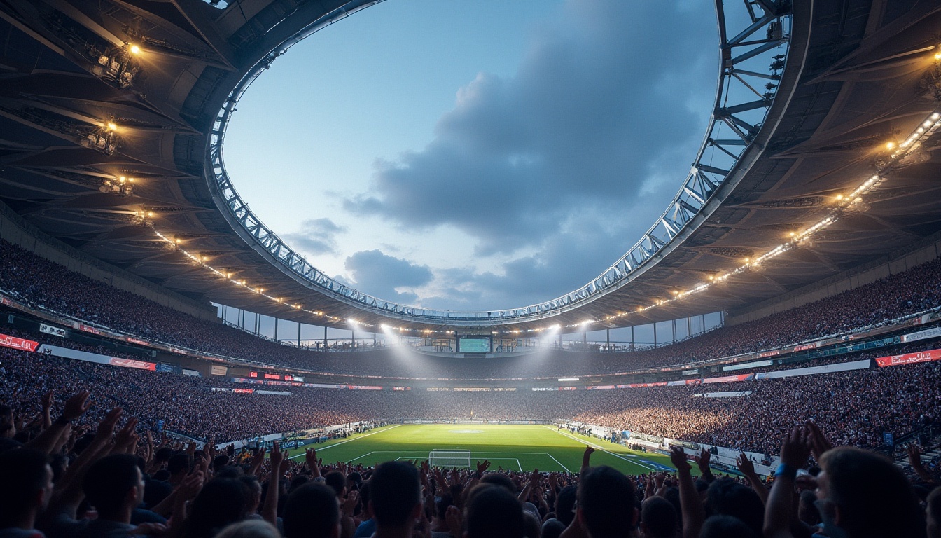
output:
[[[474,237],[478,255],[545,248],[565,236],[572,216],[590,214],[622,221],[630,234],[621,237],[623,253],[652,220],[646,191],[662,181],[676,190],[702,136],[708,101],[697,106],[714,91],[714,78],[702,74],[714,76],[717,53],[703,46],[716,41],[714,13],[698,4],[569,3],[564,23],[536,32],[514,77],[479,74],[439,120],[435,139],[377,161],[372,192],[345,208],[406,229],[454,225]],[[650,23],[658,20],[670,22],[669,33]],[[659,199],[657,213],[666,202]],[[632,210],[645,220],[631,220]],[[580,248],[598,253],[609,239]],[[549,258],[540,258],[520,274],[542,270]],[[514,264],[504,269],[506,277],[494,278],[515,274]]]

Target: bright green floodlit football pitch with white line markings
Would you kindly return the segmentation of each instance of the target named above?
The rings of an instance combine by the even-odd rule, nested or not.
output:
[[[375,465],[389,460],[426,460],[433,449],[470,450],[474,461],[490,460],[492,470],[570,471],[578,472],[586,444],[597,448],[592,465],[611,465],[625,474],[672,471],[667,456],[637,452],[566,431],[542,425],[490,424],[397,424],[329,441],[316,448],[325,463],[352,462]],[[304,448],[290,451],[292,458],[303,458]],[[695,466],[694,466],[695,468]]]

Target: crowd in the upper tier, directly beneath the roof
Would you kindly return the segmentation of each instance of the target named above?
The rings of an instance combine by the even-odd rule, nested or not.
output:
[[[130,292],[74,273],[0,240],[0,290],[73,318],[175,344],[269,365],[355,375],[422,378],[532,378],[611,373],[687,364],[761,351],[885,323],[941,304],[941,260],[869,285],[674,345],[645,351],[442,360],[391,351],[335,353],[280,345],[221,323],[193,318]]]

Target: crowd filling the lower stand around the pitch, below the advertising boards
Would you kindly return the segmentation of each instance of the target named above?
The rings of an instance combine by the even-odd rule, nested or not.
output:
[[[9,332],[9,331],[8,331]],[[17,333],[41,338],[39,334]],[[66,341],[56,339],[56,343]],[[933,348],[933,342],[894,351]],[[86,347],[89,351],[92,348]],[[139,357],[138,357],[139,358]],[[869,358],[855,353],[848,360]],[[773,452],[769,425],[787,428],[814,420],[841,444],[875,448],[883,432],[901,436],[933,424],[941,408],[941,363],[727,384],[656,386],[610,390],[410,391],[265,387],[174,373],[111,367],[41,353],[0,348],[0,403],[21,426],[43,416],[43,397],[65,387],[87,386],[106,402],[87,414],[101,419],[120,406],[141,427],[217,441],[254,438],[360,420],[430,418],[574,419],[616,431],[642,432],[755,452]],[[252,386],[287,390],[291,396],[212,389]],[[451,388],[451,387],[440,387]],[[737,398],[705,398],[708,392],[742,391]],[[52,401],[46,401],[52,405]],[[29,429],[20,428],[23,440]]]

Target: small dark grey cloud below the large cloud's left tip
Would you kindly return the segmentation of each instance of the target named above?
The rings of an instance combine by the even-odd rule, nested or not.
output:
[[[428,284],[431,269],[380,251],[360,251],[346,258],[344,267],[358,283],[368,283],[369,293],[379,299],[412,303],[418,295],[398,288],[414,288]]]

